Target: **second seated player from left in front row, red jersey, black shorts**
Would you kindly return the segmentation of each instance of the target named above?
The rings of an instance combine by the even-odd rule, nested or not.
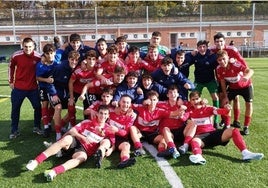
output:
[[[120,151],[118,168],[125,168],[136,163],[135,158],[130,157],[129,131],[136,119],[136,113],[131,110],[131,97],[122,95],[119,100],[118,110],[110,112],[108,123],[117,127],[115,132],[115,149]]]

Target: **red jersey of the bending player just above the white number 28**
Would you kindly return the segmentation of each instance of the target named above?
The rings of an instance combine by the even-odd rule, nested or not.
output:
[[[95,71],[95,68],[93,70],[82,70],[80,66],[77,67],[70,78],[72,80],[75,80],[73,83],[74,92],[82,93],[85,84],[92,82],[92,80],[96,79]]]

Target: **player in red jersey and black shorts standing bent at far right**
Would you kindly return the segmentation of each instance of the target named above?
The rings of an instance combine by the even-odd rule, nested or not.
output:
[[[244,119],[244,134],[249,134],[249,125],[253,113],[253,84],[251,77],[254,71],[238,60],[230,59],[227,51],[220,50],[217,52],[217,61],[219,66],[216,69],[223,93],[223,103],[233,101],[237,95],[243,96],[246,109]],[[229,83],[228,92],[226,82]]]

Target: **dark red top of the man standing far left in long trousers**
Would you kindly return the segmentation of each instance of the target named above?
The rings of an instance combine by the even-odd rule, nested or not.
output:
[[[21,90],[37,89],[36,65],[40,60],[41,56],[36,51],[30,55],[25,54],[23,50],[15,52],[9,62],[9,83]]]

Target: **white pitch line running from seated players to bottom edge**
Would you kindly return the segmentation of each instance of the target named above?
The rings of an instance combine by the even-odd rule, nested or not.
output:
[[[155,158],[158,166],[164,172],[166,179],[172,188],[183,188],[181,179],[178,177],[176,172],[170,166],[170,164],[164,158],[157,157],[157,150],[153,145],[148,144],[147,142],[143,142],[143,146],[149,153]]]

